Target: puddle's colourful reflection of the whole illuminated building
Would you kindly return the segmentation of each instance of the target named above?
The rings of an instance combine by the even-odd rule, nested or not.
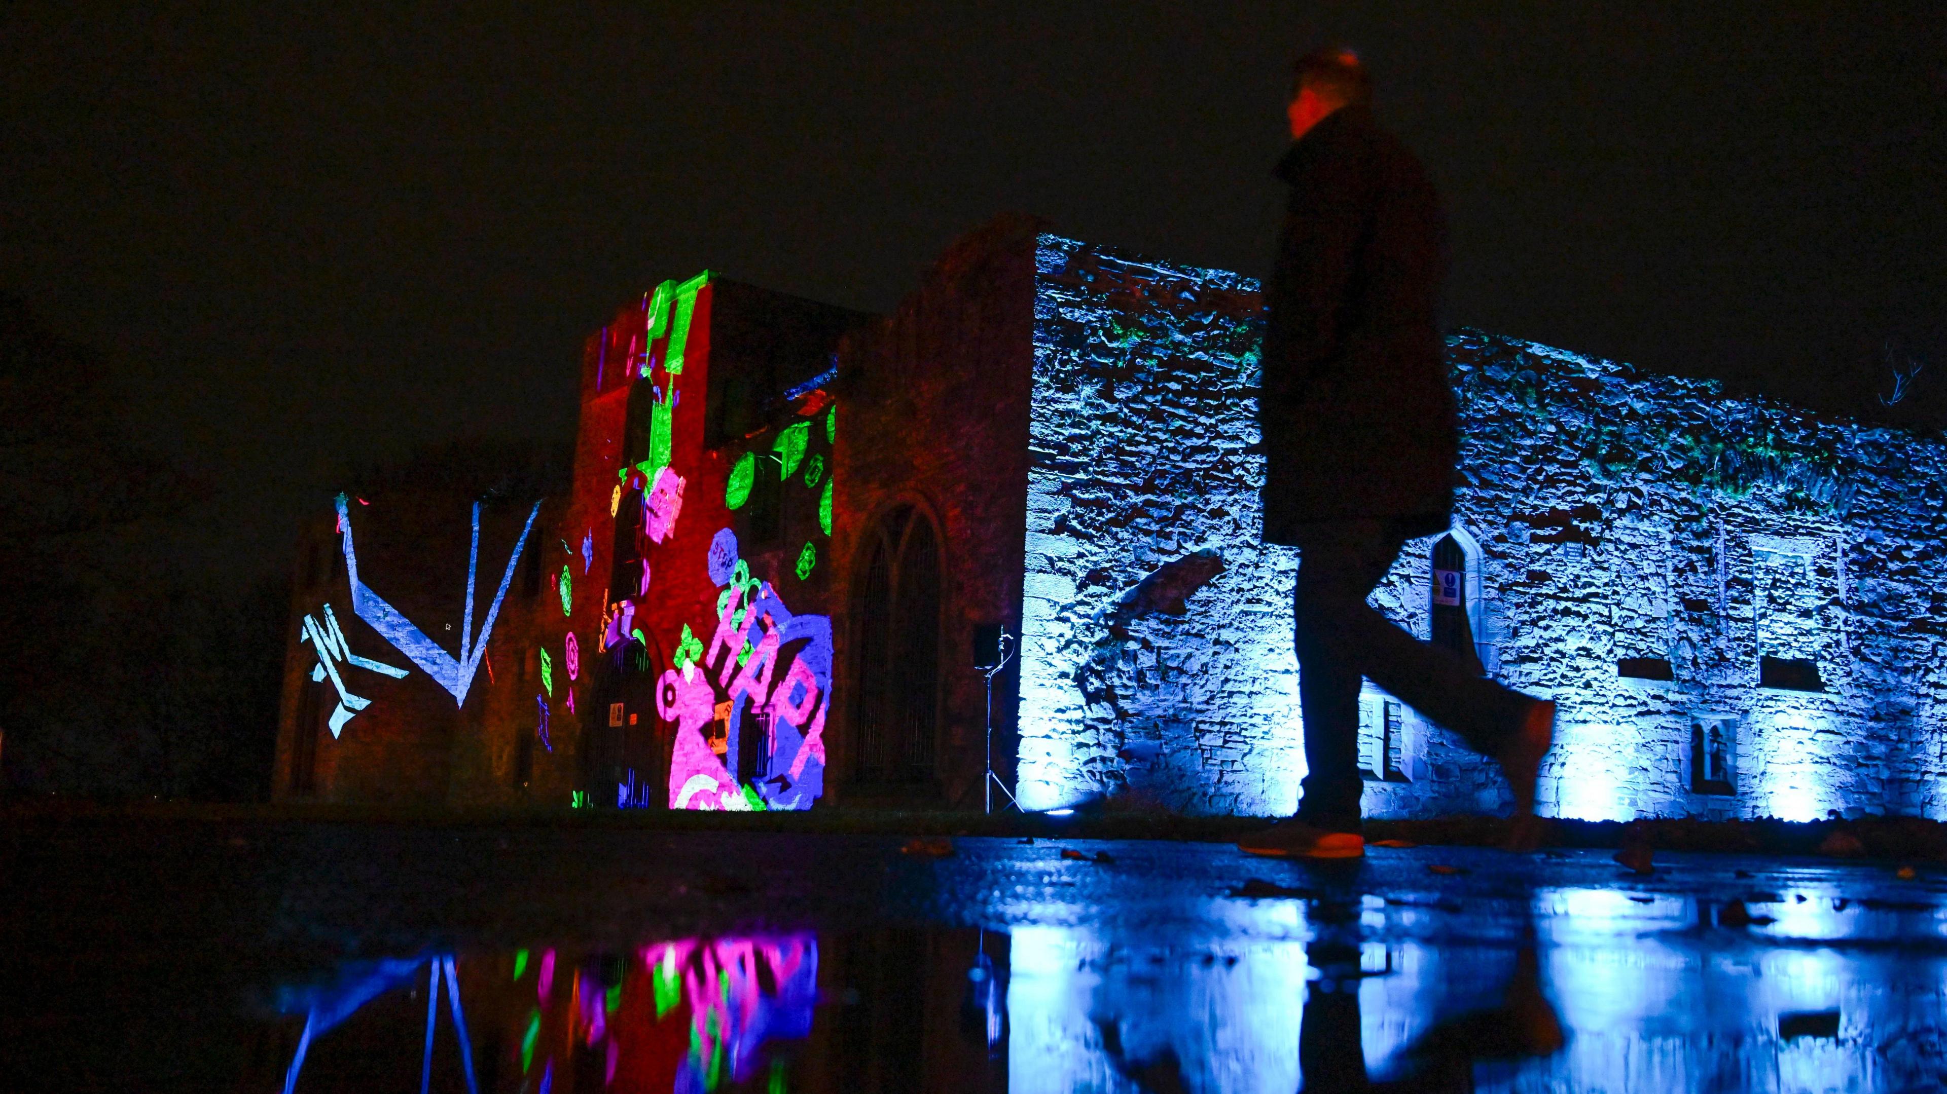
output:
[[[1168,927],[364,964],[282,997],[278,1078],[286,1094],[1939,1088],[1947,915],[1846,901],[1830,878],[1782,890],[1554,886],[1466,909],[1195,897]]]

